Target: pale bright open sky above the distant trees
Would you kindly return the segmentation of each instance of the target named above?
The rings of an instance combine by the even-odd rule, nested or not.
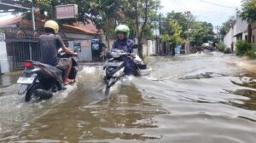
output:
[[[162,14],[168,12],[190,11],[196,20],[221,26],[232,15],[236,15],[236,8],[241,9],[241,0],[160,0]]]

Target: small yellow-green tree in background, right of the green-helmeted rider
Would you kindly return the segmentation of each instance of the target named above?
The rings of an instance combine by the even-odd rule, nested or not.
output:
[[[162,41],[165,41],[172,46],[176,46],[177,43],[182,42],[182,39],[180,37],[182,27],[178,24],[177,20],[170,20],[169,26],[167,26],[166,30],[166,34],[160,36],[160,39]]]

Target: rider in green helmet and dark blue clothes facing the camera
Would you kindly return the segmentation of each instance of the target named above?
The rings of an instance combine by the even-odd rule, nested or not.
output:
[[[136,63],[134,62],[134,58],[136,57],[136,53],[133,51],[132,46],[134,42],[129,39],[130,29],[128,26],[119,25],[115,28],[115,33],[117,35],[117,40],[114,41],[112,49],[121,49],[124,52],[130,53],[131,58],[122,56],[121,60],[125,61],[125,75],[137,75]]]

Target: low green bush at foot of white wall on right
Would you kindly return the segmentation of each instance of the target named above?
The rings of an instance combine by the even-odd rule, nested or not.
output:
[[[242,56],[251,49],[252,49],[252,44],[248,43],[247,41],[236,42],[236,55]]]

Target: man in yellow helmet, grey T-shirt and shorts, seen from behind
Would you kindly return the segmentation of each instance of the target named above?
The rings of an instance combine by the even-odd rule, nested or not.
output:
[[[62,49],[67,54],[77,55],[68,49],[61,37],[56,35],[59,31],[59,25],[54,20],[48,20],[44,24],[45,34],[41,35],[38,39],[39,48],[41,50],[41,62],[50,66],[55,66],[63,71],[64,85],[72,82],[68,79],[68,75],[72,68],[72,61],[68,58],[58,58],[58,49]]]

